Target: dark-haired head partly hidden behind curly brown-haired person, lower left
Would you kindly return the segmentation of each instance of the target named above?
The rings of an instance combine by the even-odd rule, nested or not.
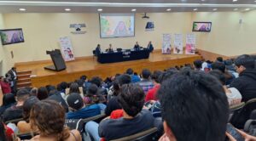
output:
[[[30,116],[30,110],[34,104],[37,104],[40,100],[36,96],[31,96],[23,104],[23,120],[28,122]]]

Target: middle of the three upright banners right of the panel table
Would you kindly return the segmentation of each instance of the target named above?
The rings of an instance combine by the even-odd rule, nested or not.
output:
[[[173,54],[183,54],[183,35],[174,34]]]

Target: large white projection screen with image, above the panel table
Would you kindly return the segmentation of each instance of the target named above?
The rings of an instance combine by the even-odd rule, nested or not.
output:
[[[134,37],[134,14],[100,14],[101,37]]]

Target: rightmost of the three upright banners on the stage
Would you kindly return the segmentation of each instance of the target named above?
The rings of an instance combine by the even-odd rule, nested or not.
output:
[[[195,34],[187,34],[186,54],[195,54]]]

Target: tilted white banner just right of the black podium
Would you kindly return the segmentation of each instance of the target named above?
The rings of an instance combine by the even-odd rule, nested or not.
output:
[[[70,37],[60,37],[61,54],[65,61],[74,60]]]

